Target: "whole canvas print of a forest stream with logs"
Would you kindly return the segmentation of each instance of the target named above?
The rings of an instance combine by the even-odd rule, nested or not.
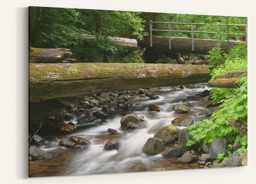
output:
[[[28,9],[29,177],[247,166],[246,17]]]

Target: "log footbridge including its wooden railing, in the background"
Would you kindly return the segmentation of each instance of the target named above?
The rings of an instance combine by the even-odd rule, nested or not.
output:
[[[168,29],[153,29],[153,24],[167,24]],[[190,30],[172,30],[171,25],[190,25]],[[216,27],[216,31],[198,31],[194,27],[198,25],[212,25]],[[144,36],[142,41],[138,40],[138,45],[142,48],[146,47],[145,55],[153,57],[158,60],[159,55],[165,54],[167,57],[177,56],[177,52],[186,53],[187,55],[193,54],[207,54],[213,47],[220,44],[223,50],[227,51],[228,48],[233,48],[241,42],[240,40],[221,40],[220,35],[241,35],[245,36],[247,41],[247,24],[201,24],[201,23],[174,23],[174,22],[153,22],[150,21],[150,35]],[[229,33],[229,27],[244,27],[245,33]],[[220,32],[220,27],[227,27],[226,32]],[[156,31],[168,32],[168,36],[153,35]],[[191,33],[191,38],[173,37],[172,33]],[[195,34],[217,34],[217,39],[197,39]],[[154,56],[157,55],[157,56]]]

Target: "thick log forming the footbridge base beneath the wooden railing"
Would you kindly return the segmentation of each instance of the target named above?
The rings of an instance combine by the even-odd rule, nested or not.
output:
[[[229,40],[229,48],[233,48],[241,42]],[[194,50],[192,51],[191,38],[171,37],[171,49],[169,49],[169,37],[167,36],[153,36],[152,47],[150,47],[150,36],[144,36],[143,40],[138,40],[138,46],[142,48],[146,47],[147,51],[154,50],[161,53],[173,53],[174,55],[177,55],[177,52],[207,54],[217,43],[217,40],[194,39]],[[221,40],[220,43],[220,47],[226,51],[227,41]]]

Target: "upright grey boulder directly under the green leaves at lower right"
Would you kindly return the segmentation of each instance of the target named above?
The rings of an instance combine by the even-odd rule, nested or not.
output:
[[[209,154],[210,158],[213,160],[217,159],[219,153],[225,153],[228,148],[226,139],[214,138],[212,143],[210,143]]]

